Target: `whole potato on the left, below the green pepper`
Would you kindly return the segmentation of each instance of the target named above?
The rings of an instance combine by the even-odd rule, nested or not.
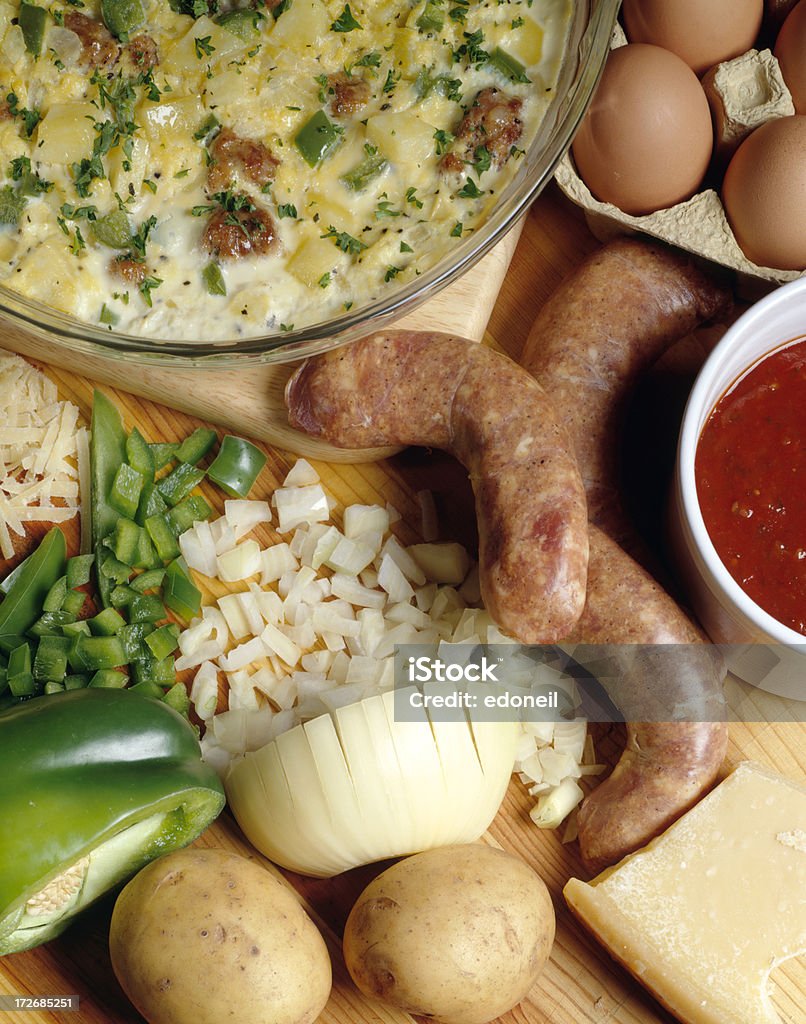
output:
[[[311,1024],[331,990],[325,941],[294,894],[223,850],[178,850],[136,874],[110,952],[151,1024]]]

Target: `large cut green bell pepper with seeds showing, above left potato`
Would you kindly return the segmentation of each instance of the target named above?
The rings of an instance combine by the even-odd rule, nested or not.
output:
[[[161,700],[78,689],[4,712],[0,954],[58,935],[223,806],[192,726]]]

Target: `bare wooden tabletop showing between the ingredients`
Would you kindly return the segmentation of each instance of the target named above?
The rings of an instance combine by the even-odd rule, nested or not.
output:
[[[596,247],[580,214],[552,187],[532,208],[498,302],[485,341],[517,357],[532,319],[561,276]],[[662,544],[660,521],[663,487],[671,466],[677,420],[682,400],[696,368],[696,354],[684,352],[672,366],[671,377],[650,382],[659,402],[645,404],[652,422],[645,431],[646,445],[635,458],[651,458],[651,501],[643,503],[647,532]],[[76,401],[89,414],[92,385],[67,370],[48,368],[62,397]],[[186,435],[199,420],[130,394],[115,392],[127,425],[137,424],[152,440]],[[647,457],[646,451],[651,452]],[[268,494],[280,483],[294,457],[266,446],[266,469],[259,487]],[[415,495],[432,490],[444,539],[475,543],[473,505],[466,474],[453,460],[439,454],[408,450],[383,462],[339,464],[316,462],[323,480],[340,505],[355,501],[389,501],[404,515],[399,535],[404,542],[417,537],[420,521]],[[642,470],[646,470],[646,465]],[[220,507],[220,497],[216,499]],[[264,535],[265,537],[265,535]],[[600,757],[613,762],[621,750],[619,727],[595,729]],[[806,778],[806,726],[801,722],[731,725],[726,769],[752,758],[794,778]],[[557,939],[551,959],[529,997],[502,1018],[502,1024],[671,1024],[666,1014],[608,955],[579,928],[565,909],[561,890],[574,874],[587,878],[575,844],[563,846],[554,833],[538,830],[528,818],[532,801],[513,779],[504,805],[484,842],[512,851],[532,864],[551,891],[557,913]],[[0,827],[4,825],[0,822]],[[199,841],[266,861],[241,837],[226,812]],[[328,939],[334,963],[333,996],[322,1024],[406,1024],[407,1015],[365,999],[346,975],[339,936],[349,908],[362,888],[383,865],[358,868],[335,880],[309,880],[286,872],[285,877],[310,909]],[[120,990],[111,969],[107,935],[111,900],[105,900],[68,932],[38,949],[0,959],[0,993],[71,994],[80,996],[78,1013],[26,1011],[0,1013],[9,1024],[134,1024],[140,1020]],[[775,1005],[784,1024],[804,1024],[806,966],[791,962],[774,974]],[[729,1022],[726,1022],[729,1024]]]

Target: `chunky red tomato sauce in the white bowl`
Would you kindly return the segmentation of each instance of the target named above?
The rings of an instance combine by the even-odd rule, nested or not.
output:
[[[806,342],[768,355],[719,399],[694,474],[725,567],[756,604],[806,635]]]

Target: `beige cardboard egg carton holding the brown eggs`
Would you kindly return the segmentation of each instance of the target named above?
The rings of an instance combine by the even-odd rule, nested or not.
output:
[[[617,26],[611,48],[627,38]],[[714,160],[726,166],[739,142],[759,125],[795,113],[792,96],[769,50],[750,50],[713,68],[703,79],[716,129]],[[577,173],[570,150],[557,166],[555,180],[562,191],[585,212],[588,226],[600,242],[617,234],[648,234],[694,256],[729,267],[737,274],[738,290],[748,299],[758,298],[776,285],[806,275],[806,271],[758,266],[744,254],[714,188],[655,213],[632,216],[612,203],[595,199]]]

